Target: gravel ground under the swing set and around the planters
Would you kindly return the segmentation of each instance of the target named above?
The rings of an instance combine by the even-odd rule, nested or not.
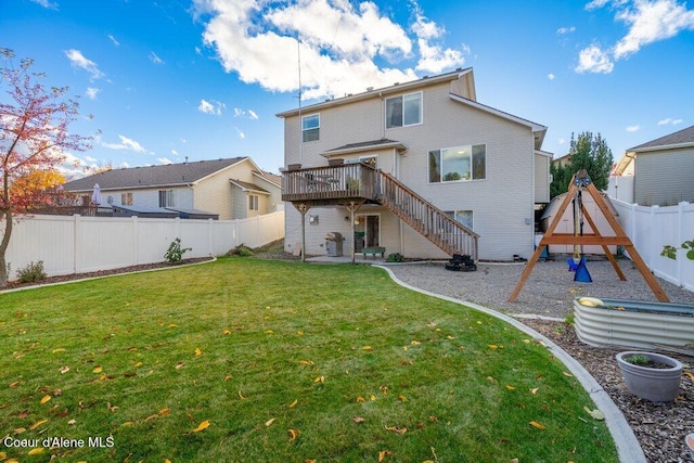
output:
[[[684,374],[680,396],[669,403],[654,403],[627,389],[615,355],[619,348],[596,348],[581,343],[574,329],[563,321],[523,316],[537,314],[564,320],[574,297],[614,297],[657,300],[630,260],[621,260],[627,281],[620,281],[608,261],[590,261],[593,283],[576,283],[566,262],[538,262],[518,299],[509,303],[524,265],[480,263],[476,272],[451,272],[444,263],[389,266],[403,282],[433,293],[472,301],[511,316],[549,337],[575,358],[609,395],[631,425],[650,462],[690,462],[684,436],[694,433],[694,376]],[[694,305],[694,293],[658,280],[672,303]],[[691,373],[694,358],[674,352],[661,353],[681,360]]]

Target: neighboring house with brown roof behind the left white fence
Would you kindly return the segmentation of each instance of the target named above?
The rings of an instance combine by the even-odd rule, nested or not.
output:
[[[114,216],[245,219],[278,210],[281,184],[249,157],[112,169],[73,180],[64,191],[83,205],[99,184]]]

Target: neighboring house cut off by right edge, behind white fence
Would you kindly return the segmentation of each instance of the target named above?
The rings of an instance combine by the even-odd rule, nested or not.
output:
[[[615,189],[631,177],[630,194]],[[643,206],[694,203],[694,126],[627,150],[613,169],[611,196]],[[628,185],[628,184],[627,184]]]

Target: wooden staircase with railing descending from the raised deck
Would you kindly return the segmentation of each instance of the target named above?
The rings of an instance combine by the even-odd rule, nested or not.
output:
[[[446,254],[477,259],[479,235],[452,219],[395,177],[376,170],[376,197],[384,207],[438,246]]]

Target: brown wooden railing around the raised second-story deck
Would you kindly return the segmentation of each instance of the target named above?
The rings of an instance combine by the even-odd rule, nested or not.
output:
[[[365,164],[311,167],[283,173],[283,201],[375,198],[376,172]]]

